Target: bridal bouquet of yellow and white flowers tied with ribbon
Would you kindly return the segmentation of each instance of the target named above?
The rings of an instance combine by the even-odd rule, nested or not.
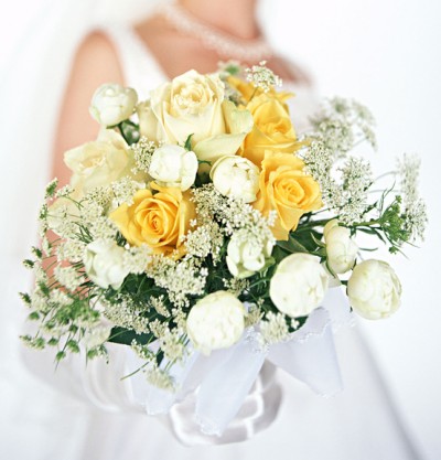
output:
[[[23,338],[29,345],[53,347],[62,361],[125,344],[142,360],[133,373],[175,395],[164,410],[190,389],[202,399],[230,392],[220,421],[220,407],[200,404],[206,431],[219,434],[265,359],[299,376],[290,353],[303,353],[316,367],[294,345],[324,333],[331,286],[364,318],[397,310],[396,274],[364,259],[356,238],[390,253],[422,238],[418,160],[405,157],[390,184],[374,185],[369,162],[354,153],[361,142],[375,148],[369,111],[334,98],[299,135],[292,95],[278,86],[260,63],[190,71],[140,103],[131,88],[97,89],[98,138],[65,153],[71,184],[47,185],[42,245],[25,260],[35,288],[22,298],[39,324]],[[208,366],[189,384],[201,360]]]

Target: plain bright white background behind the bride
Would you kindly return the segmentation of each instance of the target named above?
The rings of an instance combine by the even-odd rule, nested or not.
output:
[[[135,2],[142,3],[142,0]],[[33,40],[39,23],[51,9],[62,4],[62,0],[17,0],[3,6],[0,83],[4,82],[14,56]],[[395,257],[394,265],[405,289],[400,311],[384,322],[364,321],[363,329],[418,447],[426,459],[438,460],[441,458],[441,301],[438,293],[441,3],[435,0],[265,0],[261,17],[271,41],[314,75],[322,95],[354,97],[373,110],[379,137],[375,164],[381,170],[392,168],[395,158],[404,152],[418,152],[422,158],[421,193],[427,199],[430,216],[427,240],[421,249],[407,250],[409,259]],[[32,62],[29,72],[33,72]],[[25,85],[26,74],[22,77]],[[0,330],[2,327],[6,328],[0,324]],[[10,377],[14,375],[11,372]],[[3,378],[8,378],[7,372]],[[11,382],[7,396],[20,402],[21,395],[13,394],[13,388]],[[8,422],[7,417],[3,420]],[[0,438],[1,431],[0,425]]]

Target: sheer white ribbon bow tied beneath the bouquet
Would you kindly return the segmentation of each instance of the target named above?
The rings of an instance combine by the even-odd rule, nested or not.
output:
[[[215,351],[209,356],[191,350],[183,363],[171,367],[179,388],[175,393],[150,385],[142,373],[138,373],[131,377],[132,395],[149,415],[173,415],[173,408],[181,404],[185,417],[193,413],[193,421],[202,434],[220,437],[246,402],[266,360],[321,396],[340,392],[343,385],[333,332],[352,321],[346,297],[340,289],[330,289],[323,306],[309,315],[289,341],[263,351],[258,346],[256,334],[248,331],[235,346]],[[141,365],[132,353],[130,355],[131,365]],[[161,365],[165,364],[164,361]],[[261,416],[261,410],[257,411]]]

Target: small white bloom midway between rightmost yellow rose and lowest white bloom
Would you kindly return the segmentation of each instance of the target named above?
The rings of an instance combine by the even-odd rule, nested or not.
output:
[[[247,278],[261,270],[271,256],[273,242],[268,240],[262,246],[251,238],[248,233],[235,233],[227,247],[227,266],[236,278]]]

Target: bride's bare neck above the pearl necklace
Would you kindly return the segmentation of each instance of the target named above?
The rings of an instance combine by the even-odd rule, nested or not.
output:
[[[244,40],[260,36],[256,21],[256,0],[179,0],[189,13],[219,31]]]

